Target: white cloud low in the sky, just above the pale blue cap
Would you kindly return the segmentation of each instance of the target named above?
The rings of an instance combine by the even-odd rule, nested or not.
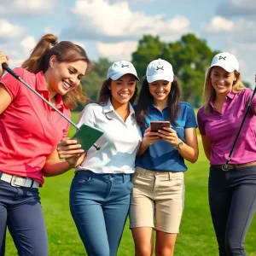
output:
[[[131,61],[131,53],[137,49],[137,41],[125,41],[116,44],[103,44],[98,42],[97,49],[103,57],[111,61]]]

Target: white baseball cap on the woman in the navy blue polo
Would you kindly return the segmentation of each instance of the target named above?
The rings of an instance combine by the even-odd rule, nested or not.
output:
[[[168,61],[162,59],[151,61],[148,64],[146,76],[148,83],[153,83],[157,80],[172,82],[174,79],[172,65]]]

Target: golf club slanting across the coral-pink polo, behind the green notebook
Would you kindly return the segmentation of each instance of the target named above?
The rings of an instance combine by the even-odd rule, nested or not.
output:
[[[59,114],[61,114],[61,116],[67,120],[67,122],[69,122],[71,125],[73,125],[77,130],[79,130],[79,126],[77,126],[75,123],[73,123],[72,120],[68,119],[67,116],[65,116],[63,113],[61,113],[61,111],[57,108],[55,108],[55,106],[53,106],[50,102],[48,102],[46,99],[44,99],[43,96],[41,96],[37,90],[34,90],[29,84],[26,84],[25,81],[23,81],[20,76],[15,73],[11,68],[9,68],[5,63],[2,64],[2,67],[5,71],[7,71],[8,73],[10,73],[13,77],[15,77],[15,79],[18,79],[22,84],[24,84],[29,90],[32,90],[33,93],[35,93],[39,98],[41,98],[45,103],[47,103],[49,105],[49,107],[55,109],[55,111]],[[93,147],[96,148],[96,150],[101,149],[100,146],[96,145],[96,143],[93,144]]]

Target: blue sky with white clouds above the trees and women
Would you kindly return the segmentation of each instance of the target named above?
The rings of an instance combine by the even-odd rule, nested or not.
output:
[[[241,78],[254,87],[253,0],[0,0],[0,51],[10,67],[47,32],[83,46],[91,60],[110,61],[131,61],[144,34],[172,42],[192,32],[212,50],[236,55]]]

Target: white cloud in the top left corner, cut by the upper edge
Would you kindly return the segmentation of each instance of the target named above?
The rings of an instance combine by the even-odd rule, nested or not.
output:
[[[40,15],[53,9],[58,0],[1,0],[0,15]]]

